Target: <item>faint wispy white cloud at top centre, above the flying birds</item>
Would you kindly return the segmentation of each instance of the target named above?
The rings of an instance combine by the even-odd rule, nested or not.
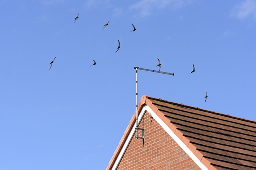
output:
[[[138,10],[141,17],[151,15],[154,10],[160,10],[167,6],[180,8],[190,0],[140,0],[132,6],[130,10]]]

